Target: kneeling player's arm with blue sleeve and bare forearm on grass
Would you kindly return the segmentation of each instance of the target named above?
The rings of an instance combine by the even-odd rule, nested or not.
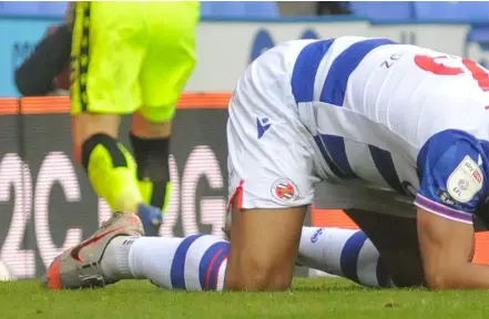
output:
[[[489,266],[470,263],[472,214],[487,194],[487,157],[463,132],[430,140],[418,158],[421,185],[415,199],[426,281],[434,289],[489,288]]]

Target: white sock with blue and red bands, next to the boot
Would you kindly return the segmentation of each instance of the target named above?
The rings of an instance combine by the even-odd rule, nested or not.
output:
[[[140,237],[129,251],[134,278],[167,289],[222,290],[230,243],[213,235]]]

